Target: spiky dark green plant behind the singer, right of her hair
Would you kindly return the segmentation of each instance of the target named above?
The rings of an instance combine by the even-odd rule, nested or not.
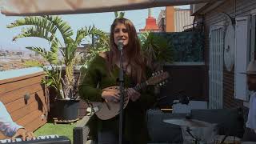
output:
[[[173,46],[161,35],[146,32],[139,35],[142,54],[147,58],[147,65],[159,69],[165,62],[173,62]]]

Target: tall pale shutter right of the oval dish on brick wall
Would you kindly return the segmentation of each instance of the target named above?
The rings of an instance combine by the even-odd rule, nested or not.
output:
[[[247,101],[247,65],[250,62],[250,17],[236,18],[234,55],[234,98]]]

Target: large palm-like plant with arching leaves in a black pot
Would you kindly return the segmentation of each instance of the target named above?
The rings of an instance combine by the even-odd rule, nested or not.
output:
[[[40,46],[27,46],[26,49],[40,54],[49,64],[43,67],[46,78],[42,80],[42,83],[54,89],[54,106],[51,106],[51,108],[54,107],[54,111],[57,111],[54,118],[77,119],[79,77],[74,78],[74,66],[78,58],[77,47],[87,36],[98,35],[100,39],[106,34],[93,26],[79,29],[75,38],[71,38],[74,34],[73,30],[58,16],[20,18],[7,27],[17,26],[28,27],[23,29],[21,34],[14,36],[14,41],[18,38],[34,37],[43,38],[50,44],[48,50]]]

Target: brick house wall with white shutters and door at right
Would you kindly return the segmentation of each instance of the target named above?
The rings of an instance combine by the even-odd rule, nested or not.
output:
[[[241,107],[246,114],[250,92],[241,71],[256,59],[256,1],[210,1],[190,8],[194,22],[204,27],[209,108]]]

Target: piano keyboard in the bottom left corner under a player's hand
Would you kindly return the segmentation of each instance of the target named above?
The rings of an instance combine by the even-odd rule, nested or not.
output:
[[[0,143],[14,143],[14,144],[71,144],[70,139],[65,136],[54,135],[43,135],[31,140],[22,141],[22,138],[15,138],[14,141],[11,139],[2,139]]]

